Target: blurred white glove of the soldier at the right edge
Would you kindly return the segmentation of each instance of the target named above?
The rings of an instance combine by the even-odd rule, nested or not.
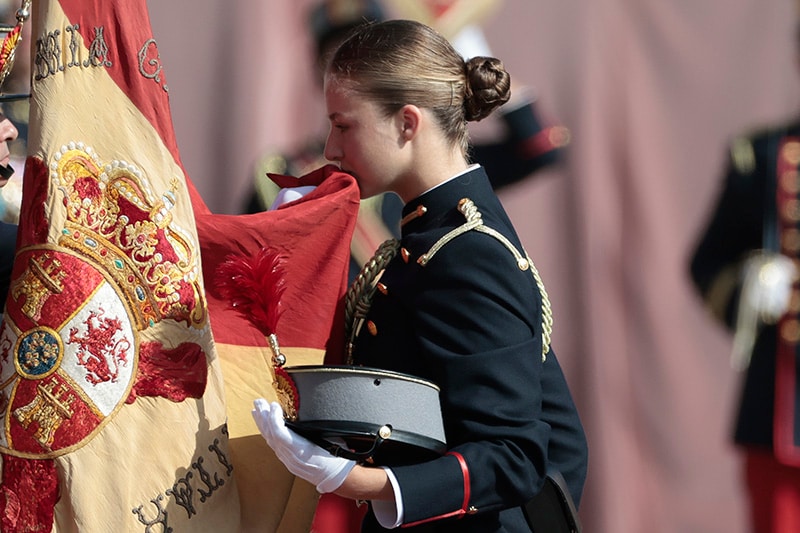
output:
[[[747,260],[739,305],[750,307],[767,324],[789,309],[797,267],[781,254],[759,254]]]

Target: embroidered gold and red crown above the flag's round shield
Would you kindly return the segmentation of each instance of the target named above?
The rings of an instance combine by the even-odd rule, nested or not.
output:
[[[155,199],[135,165],[102,164],[91,147],[76,142],[55,154],[50,178],[64,194],[67,215],[58,244],[114,279],[139,329],[164,319],[205,326],[197,254],[173,223],[177,179]]]

